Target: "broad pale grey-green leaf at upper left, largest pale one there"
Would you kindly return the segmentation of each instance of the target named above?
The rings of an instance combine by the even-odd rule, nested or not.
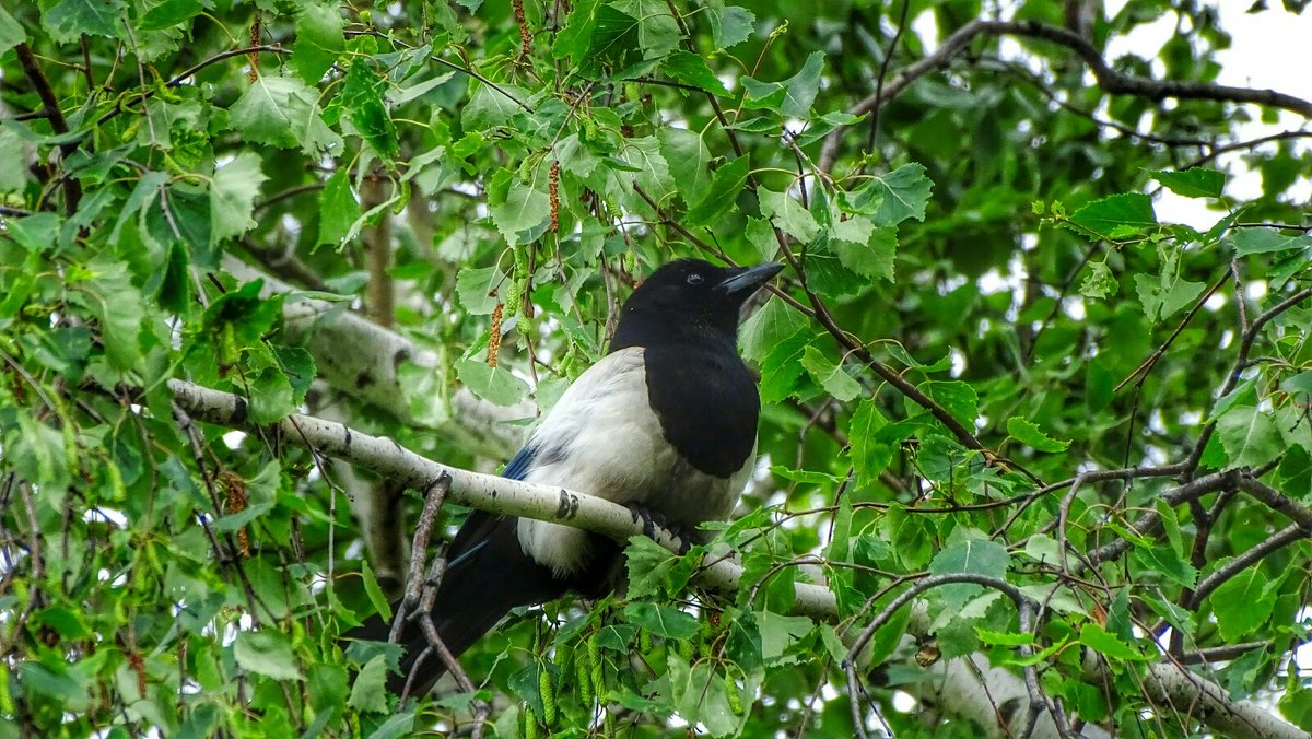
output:
[[[232,126],[248,142],[297,148],[307,156],[335,154],[341,137],[319,110],[319,92],[298,77],[264,75],[232,104]]]

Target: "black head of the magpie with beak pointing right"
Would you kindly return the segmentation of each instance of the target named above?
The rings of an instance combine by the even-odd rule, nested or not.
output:
[[[610,350],[687,341],[737,340],[739,308],[782,264],[716,266],[681,259],[661,265],[628,297]]]

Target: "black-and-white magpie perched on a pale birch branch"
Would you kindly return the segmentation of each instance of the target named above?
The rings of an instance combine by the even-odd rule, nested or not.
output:
[[[648,533],[727,518],[754,466],[761,406],[737,353],[739,312],[782,269],[695,259],[659,266],[621,308],[606,354],[569,385],[502,476],[627,505]],[[611,592],[623,566],[606,537],[483,511],[466,518],[446,558],[430,616],[454,656],[514,608]],[[390,629],[375,614],[345,637],[382,642]],[[415,620],[399,642],[388,689],[429,692],[445,664]]]

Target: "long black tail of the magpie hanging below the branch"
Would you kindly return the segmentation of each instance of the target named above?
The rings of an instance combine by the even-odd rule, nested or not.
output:
[[[517,518],[475,513],[451,542],[446,575],[437,589],[432,618],[442,643],[454,656],[470,648],[512,608],[544,602],[564,595],[567,583],[530,559],[516,536]],[[400,601],[392,604],[398,609]],[[422,618],[422,617],[420,617]],[[391,623],[378,614],[348,631],[346,639],[386,642]],[[399,643],[404,652],[400,673],[388,676],[387,688],[409,696],[426,693],[446,673],[441,658],[417,620],[408,620]]]

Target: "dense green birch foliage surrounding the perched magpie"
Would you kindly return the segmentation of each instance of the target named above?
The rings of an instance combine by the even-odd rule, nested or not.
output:
[[[0,732],[470,728],[335,642],[404,571],[348,494],[392,534],[396,491],[167,381],[491,471],[676,256],[790,265],[743,331],[743,588],[684,605],[695,553],[634,545],[628,597],[466,655],[478,730],[1225,732],[1176,664],[1312,728],[1312,159],[1237,135],[1312,104],[1214,84],[1195,0],[739,1],[0,9]],[[325,341],[353,311],[407,350]]]

